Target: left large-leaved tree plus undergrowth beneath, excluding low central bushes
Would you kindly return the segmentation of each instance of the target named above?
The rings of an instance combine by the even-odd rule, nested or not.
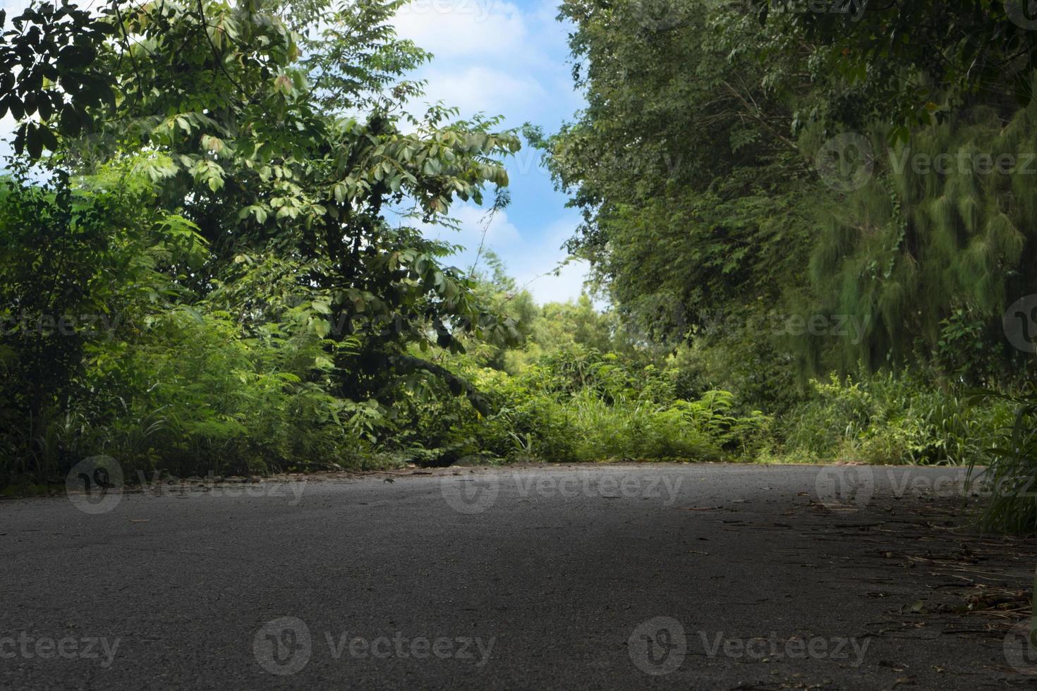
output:
[[[463,334],[514,342],[514,324],[416,226],[505,185],[517,139],[439,107],[403,113],[415,87],[398,78],[427,56],[394,38],[398,6],[301,6],[324,19],[314,35],[261,2],[11,22],[21,73],[3,103],[37,166],[0,199],[7,478],[52,480],[95,453],[334,463],[430,376],[484,407],[424,353],[461,352]],[[110,98],[54,89],[84,64]],[[89,126],[55,121],[38,79]],[[100,316],[105,329],[50,326]]]

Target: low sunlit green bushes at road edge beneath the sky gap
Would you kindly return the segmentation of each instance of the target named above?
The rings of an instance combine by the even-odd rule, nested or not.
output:
[[[423,403],[409,440],[439,447],[414,460],[448,464],[465,456],[503,461],[719,460],[750,458],[769,419],[733,413],[734,397],[675,398],[676,370],[638,369],[614,353],[560,348],[506,372],[469,367],[493,401],[479,415],[455,400]]]

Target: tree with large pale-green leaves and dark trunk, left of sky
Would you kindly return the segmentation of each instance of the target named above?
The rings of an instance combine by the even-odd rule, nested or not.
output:
[[[303,39],[264,3],[113,3],[114,38],[96,48],[115,108],[86,107],[104,125],[48,162],[89,172],[150,151],[140,172],[160,184],[161,204],[209,242],[212,261],[189,278],[200,295],[244,257],[298,259],[298,280],[324,292],[321,328],[361,341],[347,367],[338,363],[343,396],[388,396],[394,376],[415,371],[450,378],[404,353],[427,344],[429,328],[448,349],[463,347],[455,330],[513,337],[467,277],[440,266],[445,247],[386,220],[408,204],[437,222],[455,198],[481,202],[485,184],[507,183],[499,159],[518,146],[493,132],[496,120],[448,123],[441,107],[415,132],[400,128],[413,89],[388,84],[423,56],[391,36],[386,22],[399,4],[315,5],[329,26]],[[368,113],[345,115],[357,108]]]

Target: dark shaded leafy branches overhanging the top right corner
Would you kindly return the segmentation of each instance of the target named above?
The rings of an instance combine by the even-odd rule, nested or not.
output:
[[[1037,28],[1028,0],[751,0],[768,31],[762,64],[805,55],[826,122],[913,128],[975,103],[1033,98]],[[806,55],[805,55],[806,57]]]

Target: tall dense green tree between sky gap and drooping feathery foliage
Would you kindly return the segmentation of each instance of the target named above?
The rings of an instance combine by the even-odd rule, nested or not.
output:
[[[681,7],[661,30],[639,3],[564,3],[588,108],[551,138],[529,133],[583,209],[569,250],[627,321],[674,343],[710,312],[774,304],[796,283],[811,175],[790,103],[748,48],[763,30],[724,34],[708,3]]]

